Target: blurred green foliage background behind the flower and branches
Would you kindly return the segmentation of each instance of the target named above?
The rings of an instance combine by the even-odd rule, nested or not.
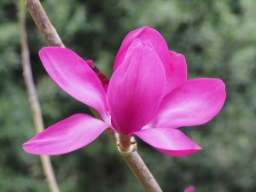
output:
[[[34,136],[20,63],[15,0],[0,0],[0,191],[48,191],[38,156],[21,144]],[[189,78],[214,77],[227,100],[207,125],[182,128],[203,148],[184,158],[160,154],[138,141],[138,150],[165,192],[256,191],[256,2],[254,0],[44,0],[64,44],[95,61],[110,77],[127,32],[157,29],[169,48],[185,55]],[[32,71],[49,126],[88,109],[61,91],[45,73],[38,50],[45,46],[27,15]],[[102,135],[72,154],[52,157],[61,192],[138,192],[142,188]]]

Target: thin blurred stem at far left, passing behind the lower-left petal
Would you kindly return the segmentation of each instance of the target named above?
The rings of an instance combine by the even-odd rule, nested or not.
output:
[[[29,58],[29,49],[26,39],[26,15],[23,0],[20,0],[20,46],[21,46],[21,59],[23,67],[23,76],[25,79],[26,90],[29,96],[29,102],[32,108],[32,117],[36,132],[44,131],[44,123],[41,113],[41,108],[38,102],[38,96],[35,84],[32,79],[31,63]],[[49,190],[51,192],[60,192],[58,184],[56,183],[55,173],[51,166],[49,156],[40,156],[41,164],[43,166],[44,175],[46,177]]]

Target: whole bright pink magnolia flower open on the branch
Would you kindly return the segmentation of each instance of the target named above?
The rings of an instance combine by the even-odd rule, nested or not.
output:
[[[205,124],[224,105],[224,83],[188,80],[184,56],[169,51],[160,33],[148,26],[125,37],[108,90],[72,50],[47,47],[39,55],[55,84],[95,108],[102,120],[82,113],[63,119],[24,143],[30,154],[65,154],[91,143],[107,129],[140,137],[165,154],[193,154],[201,148],[177,128]]]

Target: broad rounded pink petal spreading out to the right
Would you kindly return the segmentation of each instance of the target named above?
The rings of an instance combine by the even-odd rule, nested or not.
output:
[[[150,127],[176,128],[205,124],[218,114],[225,97],[222,80],[190,79],[165,96]]]

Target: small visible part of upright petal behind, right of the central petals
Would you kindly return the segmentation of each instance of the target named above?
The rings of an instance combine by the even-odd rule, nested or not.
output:
[[[187,81],[187,63],[182,54],[170,51],[170,70],[166,72],[167,92]]]

